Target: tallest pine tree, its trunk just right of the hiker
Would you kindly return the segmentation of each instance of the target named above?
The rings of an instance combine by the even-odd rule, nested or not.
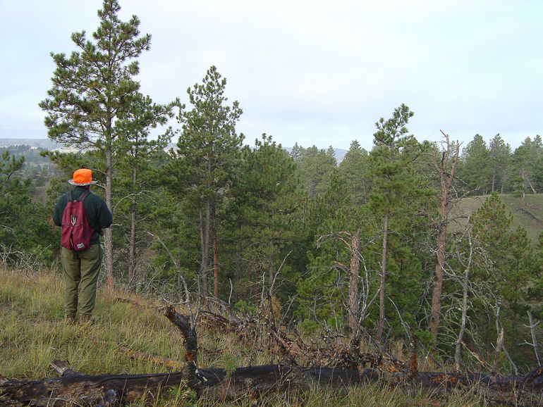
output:
[[[53,54],[56,65],[53,87],[39,107],[47,111],[44,120],[51,140],[78,149],[91,149],[90,168],[104,175],[105,201],[113,209],[114,166],[126,154],[119,119],[139,99],[137,58],[150,49],[151,36],[140,37],[140,20],[135,15],[124,23],[118,19],[117,0],[104,0],[98,11],[99,27],[87,40],[85,31],[71,39],[78,51],[71,56]],[[113,230],[105,230],[106,277],[113,282]]]

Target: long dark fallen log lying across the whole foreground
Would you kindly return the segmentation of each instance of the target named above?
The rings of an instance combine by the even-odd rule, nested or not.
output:
[[[333,368],[300,368],[282,365],[261,365],[237,368],[231,375],[224,369],[199,369],[195,372],[202,395],[212,399],[237,399],[246,394],[292,392],[309,389],[311,383],[343,386],[382,382],[390,386],[432,389],[480,387],[499,394],[513,394],[520,389],[541,393],[543,367],[527,377],[504,377],[492,374],[461,374],[419,372],[413,380],[407,372],[383,375],[379,370],[339,370]],[[0,383],[0,403],[6,406],[65,406],[69,403],[102,406],[106,403],[131,403],[145,397],[167,395],[167,391],[186,384],[183,373],[156,375],[65,375],[63,377],[23,382],[7,380]],[[108,393],[109,392],[109,393]]]

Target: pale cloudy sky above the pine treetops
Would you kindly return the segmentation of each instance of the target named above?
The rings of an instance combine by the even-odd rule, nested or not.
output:
[[[267,133],[284,147],[358,140],[370,150],[377,120],[401,104],[419,141],[500,134],[515,149],[543,135],[540,0],[119,2],[121,20],[138,15],[152,35],[140,91],[188,104],[187,88],[215,65],[228,103],[243,109],[245,144]],[[72,32],[92,38],[99,8],[0,0],[0,138],[47,137],[37,105],[51,88],[50,53],[75,51]]]

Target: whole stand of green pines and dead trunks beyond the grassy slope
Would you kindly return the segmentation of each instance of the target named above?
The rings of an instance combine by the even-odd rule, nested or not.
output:
[[[51,54],[53,87],[40,106],[49,139],[76,152],[43,150],[50,165],[33,171],[33,151],[1,152],[4,267],[59,267],[53,207],[73,171],[91,168],[92,192],[114,215],[107,284],[202,306],[219,299],[353,343],[386,346],[413,331],[457,370],[472,357],[463,344],[496,369],[542,364],[539,135],[514,151],[499,134],[460,146],[444,129],[419,141],[402,104],[376,118],[370,149],[354,140],[339,164],[331,146],[287,152],[262,134],[250,147],[236,132],[243,101],[228,101],[214,66],[188,88],[188,106],[140,94],[137,57],[150,35],[118,9],[104,1],[94,42],[74,33],[77,52]],[[151,139],[154,128],[164,133]],[[474,196],[480,205],[465,210]],[[514,199],[530,232],[513,228],[502,199]]]

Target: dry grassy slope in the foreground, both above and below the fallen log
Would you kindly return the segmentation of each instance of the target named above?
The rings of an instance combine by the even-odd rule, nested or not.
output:
[[[67,361],[75,371],[90,375],[175,370],[163,363],[149,361],[142,353],[183,360],[181,335],[157,311],[157,306],[163,305],[157,299],[100,288],[94,311],[96,323],[92,326],[66,325],[62,318],[60,273],[7,270],[0,265],[0,280],[0,378],[56,377],[49,363],[57,359]],[[133,302],[119,301],[119,298]],[[183,313],[183,309],[177,308]],[[213,324],[203,322],[197,325],[197,332],[200,366],[228,370],[236,366],[280,362],[281,355],[270,346],[266,334],[221,332]],[[319,338],[315,338],[315,343],[318,341]],[[396,351],[396,357],[405,360],[402,344],[396,346]],[[210,404],[205,399],[183,399],[179,394],[183,393],[172,391],[170,398],[154,400],[152,406],[253,405],[249,396],[236,402]],[[261,401],[267,406],[307,407],[484,405],[477,394],[455,394],[442,399],[422,392],[408,394],[401,389],[382,388],[376,384],[341,389],[315,388],[304,394],[270,394]]]

